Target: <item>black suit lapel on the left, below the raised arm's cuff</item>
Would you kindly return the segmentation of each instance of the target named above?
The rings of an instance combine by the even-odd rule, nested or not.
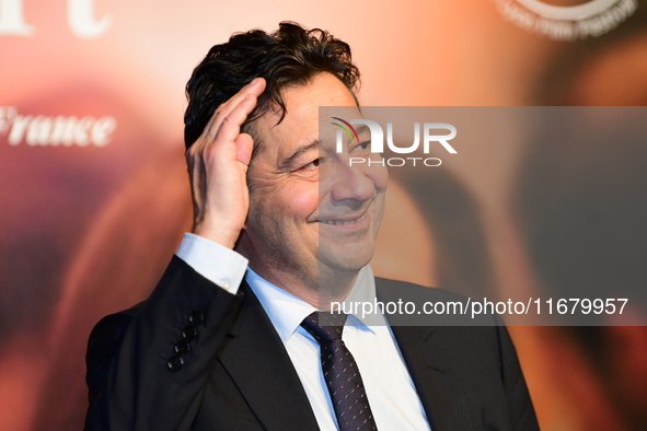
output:
[[[220,362],[267,430],[317,430],[301,381],[281,339],[243,281],[241,315]]]

